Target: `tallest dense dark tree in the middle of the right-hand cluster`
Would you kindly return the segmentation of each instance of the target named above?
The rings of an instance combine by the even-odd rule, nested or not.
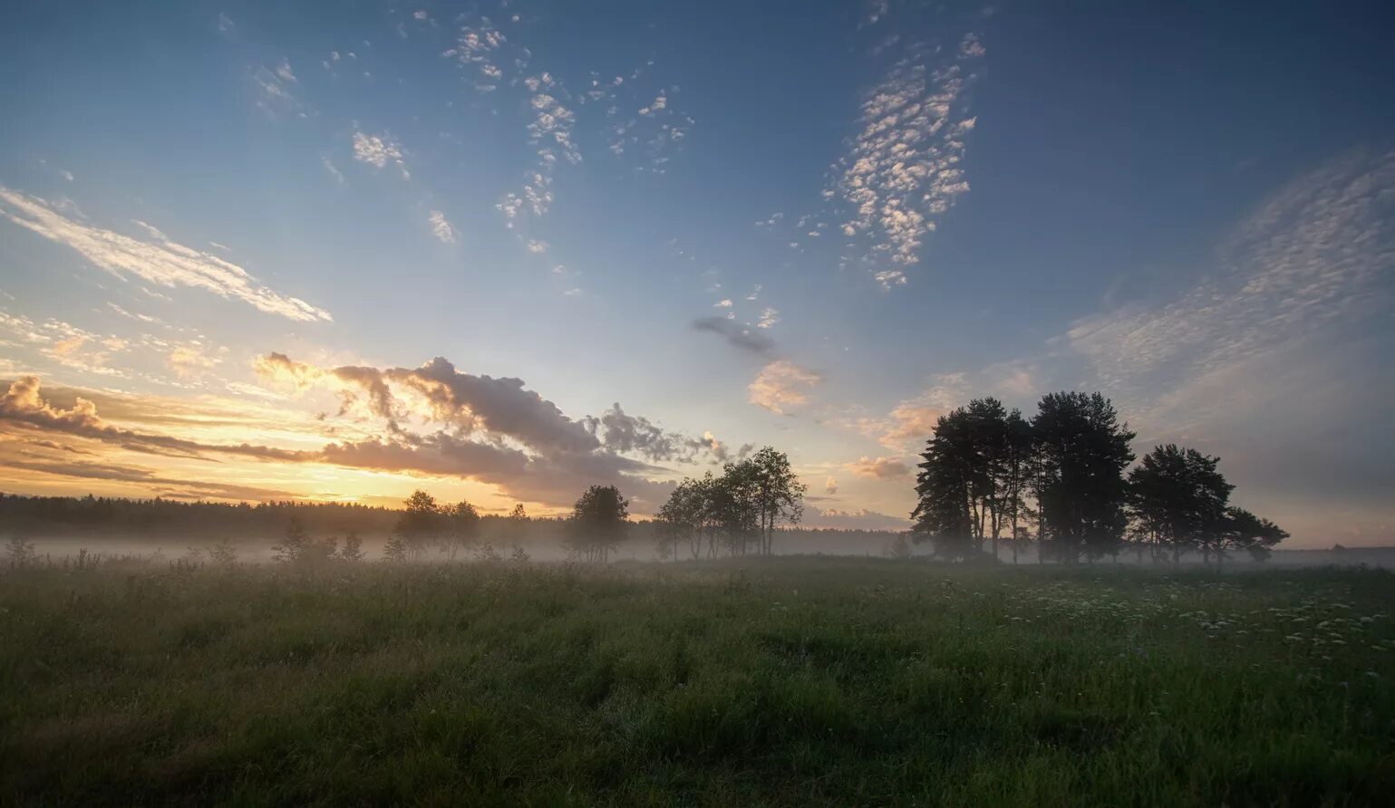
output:
[[[1066,563],[1081,553],[1094,560],[1117,552],[1127,527],[1123,472],[1134,460],[1134,433],[1099,393],[1048,393],[1031,425],[1038,541]]]

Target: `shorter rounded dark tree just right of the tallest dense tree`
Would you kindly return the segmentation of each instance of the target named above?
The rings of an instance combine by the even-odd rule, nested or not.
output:
[[[1208,560],[1222,550],[1226,502],[1235,486],[1216,469],[1219,463],[1219,457],[1169,443],[1154,447],[1129,472],[1136,539],[1152,547],[1154,559],[1163,547],[1170,549],[1173,563],[1191,549]]]

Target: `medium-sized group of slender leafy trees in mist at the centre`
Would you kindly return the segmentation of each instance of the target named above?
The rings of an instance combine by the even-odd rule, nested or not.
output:
[[[805,486],[783,451],[764,447],[741,463],[728,463],[720,476],[685,478],[656,515],[660,557],[678,557],[686,545],[693,559],[725,550],[742,556],[774,553],[781,524],[804,517]]]

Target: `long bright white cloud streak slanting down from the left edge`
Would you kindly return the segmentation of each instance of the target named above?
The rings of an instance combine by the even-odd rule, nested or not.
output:
[[[0,216],[67,245],[117,277],[202,288],[293,320],[331,320],[329,312],[259,286],[246,269],[216,255],[152,235],[141,241],[68,219],[43,199],[0,187]]]

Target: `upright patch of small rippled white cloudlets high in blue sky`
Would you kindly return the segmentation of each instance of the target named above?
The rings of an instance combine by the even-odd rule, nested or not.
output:
[[[950,60],[912,43],[862,102],[862,131],[840,162],[836,192],[850,213],[843,234],[870,247],[861,258],[883,288],[907,281],[925,237],[968,191],[964,63],[983,54],[972,33]],[[935,61],[935,64],[932,64]],[[887,262],[890,266],[887,266]]]

